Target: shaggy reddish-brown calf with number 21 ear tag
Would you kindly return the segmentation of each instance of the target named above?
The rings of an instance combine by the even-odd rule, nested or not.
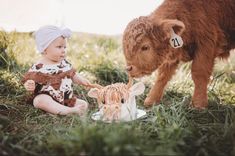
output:
[[[158,69],[145,105],[158,103],[180,62],[192,61],[192,105],[208,105],[207,85],[215,58],[235,48],[235,0],[165,0],[131,21],[123,34],[127,71],[141,77]]]

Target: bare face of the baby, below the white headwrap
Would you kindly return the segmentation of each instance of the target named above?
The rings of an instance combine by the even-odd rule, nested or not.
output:
[[[65,59],[66,54],[66,39],[63,37],[58,37],[55,39],[44,51],[44,56],[53,61],[61,62]]]

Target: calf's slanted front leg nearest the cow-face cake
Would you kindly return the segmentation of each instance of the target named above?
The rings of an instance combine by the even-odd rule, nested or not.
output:
[[[145,106],[152,106],[154,103],[159,103],[161,101],[164,88],[167,82],[171,79],[172,75],[175,73],[177,65],[178,63],[164,64],[159,67],[155,84],[144,101]]]

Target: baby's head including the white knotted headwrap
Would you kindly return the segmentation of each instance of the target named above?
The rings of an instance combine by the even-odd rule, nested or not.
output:
[[[71,30],[48,25],[35,32],[37,50],[54,61],[65,57],[66,38],[71,36]]]

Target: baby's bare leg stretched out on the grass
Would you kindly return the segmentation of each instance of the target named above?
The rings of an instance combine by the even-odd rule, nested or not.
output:
[[[77,108],[61,105],[60,103],[56,102],[49,95],[46,94],[40,94],[36,96],[33,100],[33,105],[34,107],[42,109],[51,114],[60,114],[60,115],[67,115],[71,113],[79,114]]]

